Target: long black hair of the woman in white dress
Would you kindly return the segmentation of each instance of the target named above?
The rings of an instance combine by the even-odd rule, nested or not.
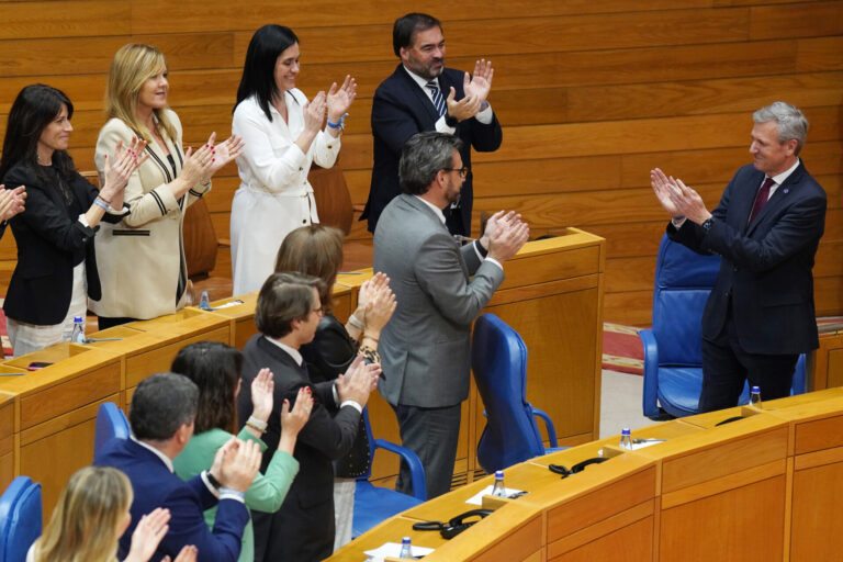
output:
[[[283,25],[270,23],[255,32],[246,50],[246,63],[243,65],[243,77],[240,86],[237,87],[237,103],[234,109],[237,109],[243,100],[255,95],[267,119],[272,121],[269,104],[272,103],[273,97],[281,93],[276,86],[276,61],[281,53],[296,43],[299,37],[293,30]]]

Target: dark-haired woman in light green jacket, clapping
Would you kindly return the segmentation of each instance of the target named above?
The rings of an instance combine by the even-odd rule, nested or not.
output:
[[[234,427],[237,407],[237,394],[240,392],[240,370],[243,353],[218,341],[199,341],[183,347],[172,361],[171,371],[183,374],[199,386],[199,407],[196,409],[193,437],[187,447],[173,460],[176,474],[182,480],[190,480],[214,462],[217,449],[228,442]],[[251,383],[252,413],[246,426],[238,434],[243,440],[257,441],[265,450],[267,446],[260,439],[267,429],[272,405],[274,383],[269,369],[262,369]],[[284,400],[281,411],[281,439],[278,450],[272,456],[263,474],[258,473],[246,491],[246,506],[260,512],[277,512],[290,490],[293,479],[299,473],[299,461],[293,458],[293,449],[299,431],[310,417],[313,397],[302,389],[292,411]],[[205,521],[213,529],[216,520],[216,507],[205,512]],[[251,521],[243,531],[240,562],[255,560],[255,537]]]

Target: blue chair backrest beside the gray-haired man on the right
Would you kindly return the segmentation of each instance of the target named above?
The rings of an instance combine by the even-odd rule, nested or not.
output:
[[[702,310],[720,270],[718,256],[700,256],[667,235],[659,245],[653,290],[653,335],[659,364],[702,363]]]

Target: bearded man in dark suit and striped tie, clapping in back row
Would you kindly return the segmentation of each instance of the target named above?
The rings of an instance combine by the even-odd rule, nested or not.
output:
[[[374,233],[378,220],[398,190],[401,148],[423,131],[438,131],[462,140],[460,157],[471,168],[471,147],[481,153],[497,150],[503,139],[486,98],[492,88],[492,63],[479,60],[474,76],[445,67],[442,25],[432,15],[408,13],[395,20],[392,47],[401,64],[374,92],[372,135],[374,166],[369,201],[360,220],[369,220]],[[473,201],[471,170],[459,199],[445,209],[451,234],[471,234]]]

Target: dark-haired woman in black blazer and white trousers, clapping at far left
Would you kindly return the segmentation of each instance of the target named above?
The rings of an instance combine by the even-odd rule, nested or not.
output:
[[[117,147],[98,191],[67,154],[72,114],[67,95],[44,85],[21,90],[9,112],[0,179],[27,194],[10,221],[18,265],[3,303],[15,356],[69,339],[74,317],[88,310],[86,294],[99,297],[93,235],[100,221],[128,212],[123,190],[144,160],[137,155],[145,143]]]

